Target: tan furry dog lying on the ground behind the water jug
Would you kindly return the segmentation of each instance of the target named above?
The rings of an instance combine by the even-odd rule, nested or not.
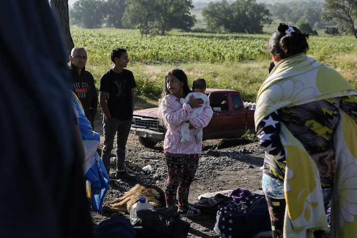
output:
[[[103,206],[104,211],[122,211],[130,213],[130,208],[139,201],[140,197],[145,197],[154,208],[165,207],[165,193],[159,187],[154,185],[136,184],[131,190],[125,192],[125,195],[108,202]]]

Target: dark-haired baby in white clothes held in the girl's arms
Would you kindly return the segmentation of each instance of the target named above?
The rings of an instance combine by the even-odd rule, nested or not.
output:
[[[184,104],[186,102],[189,101],[190,97],[192,98],[201,98],[203,99],[205,105],[210,105],[210,99],[208,98],[208,96],[205,94],[206,91],[206,81],[201,78],[201,77],[197,77],[194,81],[193,81],[193,85],[192,85],[192,93],[187,94],[187,96],[185,98],[181,98],[180,99],[180,103]],[[204,107],[197,107],[197,108],[193,108],[191,115],[189,117],[189,119],[198,117],[200,114],[203,113],[203,109],[205,109]],[[195,131],[195,135],[196,135],[196,142],[200,143],[202,141],[203,138],[203,133],[202,133],[202,129],[203,127],[198,127],[198,128],[194,128]],[[183,122],[181,124],[181,141],[180,143],[185,143],[187,141],[189,141],[189,136],[190,136],[190,121],[187,120],[185,122]]]

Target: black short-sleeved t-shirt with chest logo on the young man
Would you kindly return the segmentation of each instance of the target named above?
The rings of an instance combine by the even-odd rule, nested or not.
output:
[[[134,75],[127,69],[121,73],[110,69],[101,76],[99,91],[108,93],[107,104],[112,117],[128,120],[133,116],[132,88],[135,87]]]

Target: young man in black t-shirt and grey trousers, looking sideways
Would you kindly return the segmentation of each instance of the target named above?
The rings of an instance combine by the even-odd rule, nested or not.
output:
[[[134,75],[123,69],[129,63],[125,49],[115,48],[110,54],[114,67],[100,78],[99,104],[103,110],[104,143],[101,158],[111,178],[135,179],[125,171],[125,145],[130,133],[134,111]],[[117,132],[117,164],[115,173],[110,174],[110,157],[114,136]]]

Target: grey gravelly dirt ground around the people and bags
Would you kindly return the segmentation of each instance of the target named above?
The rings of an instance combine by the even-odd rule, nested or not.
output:
[[[101,136],[99,146],[99,149],[101,149],[104,137],[100,116],[95,121],[95,131]],[[257,143],[217,149],[220,141],[207,140],[203,142],[199,168],[190,187],[189,203],[192,205],[199,201],[197,198],[199,195],[209,192],[234,190],[236,188],[245,188],[254,193],[261,192],[262,172],[260,167],[263,165],[263,150]],[[219,152],[219,156],[207,155],[209,150]],[[115,148],[112,153],[115,153]],[[156,185],[165,190],[167,171],[162,143],[158,143],[154,148],[146,148],[139,143],[137,136],[131,133],[126,144],[125,163],[128,171],[136,174],[138,179],[134,182],[111,179],[111,187],[105,197],[105,203],[123,196],[136,183]],[[151,165],[152,171],[143,171],[142,167],[148,164]],[[113,171],[115,171],[115,161],[111,163],[111,172]],[[129,214],[106,211],[101,215],[91,213],[94,226],[101,221],[119,215],[128,219],[130,217]],[[202,214],[199,217],[183,218],[183,220],[190,223],[188,237],[220,237],[213,230],[215,216]]]

